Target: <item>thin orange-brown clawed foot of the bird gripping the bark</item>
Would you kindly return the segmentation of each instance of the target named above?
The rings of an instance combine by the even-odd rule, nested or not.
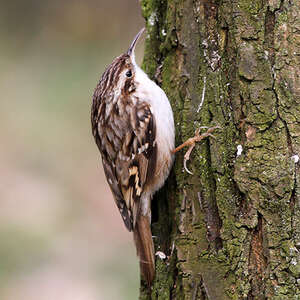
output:
[[[216,129],[221,128],[221,127],[220,126],[214,126],[214,127],[208,128],[205,133],[200,135],[200,130],[202,128],[207,128],[207,127],[198,128],[195,132],[194,137],[189,138],[187,141],[185,141],[183,144],[181,144],[180,146],[178,146],[176,149],[173,150],[173,153],[176,153],[177,151],[181,150],[182,148],[184,148],[186,146],[189,146],[188,151],[184,155],[183,166],[184,166],[184,169],[191,175],[193,175],[193,173],[187,168],[186,163],[187,163],[187,161],[189,161],[190,155],[191,155],[196,143],[202,141],[203,139],[205,139],[206,137],[209,137],[209,136],[212,137],[212,138],[215,138],[212,135],[212,132],[215,131]]]

